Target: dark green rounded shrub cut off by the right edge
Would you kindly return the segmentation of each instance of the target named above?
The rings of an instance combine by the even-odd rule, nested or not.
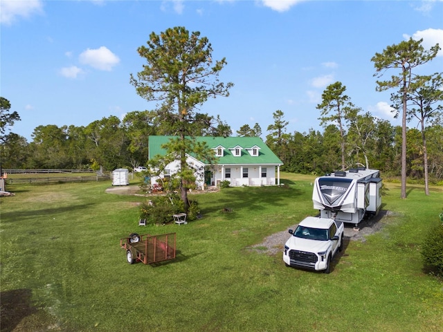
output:
[[[424,263],[435,270],[437,276],[443,277],[443,212],[440,223],[428,233],[422,246]]]

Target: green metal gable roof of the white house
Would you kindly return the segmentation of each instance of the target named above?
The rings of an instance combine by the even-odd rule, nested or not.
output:
[[[150,136],[149,158],[156,155],[164,156],[166,150],[161,145],[167,143],[171,138],[177,136]],[[210,149],[224,147],[224,156],[216,157],[218,165],[283,165],[282,161],[275,156],[273,151],[263,142],[260,137],[213,137],[197,136],[197,142],[206,142]],[[241,156],[233,156],[233,149],[242,147]],[[258,156],[251,156],[248,149],[257,148]]]

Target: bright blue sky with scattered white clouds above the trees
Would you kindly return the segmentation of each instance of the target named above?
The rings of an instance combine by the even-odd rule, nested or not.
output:
[[[336,81],[363,111],[399,124],[390,92],[375,91],[375,53],[413,37],[443,46],[443,1],[105,1],[0,0],[0,95],[21,121],[10,131],[31,141],[46,124],[86,126],[111,115],[152,110],[129,84],[150,33],[200,31],[213,57],[226,57],[228,98],[200,109],[233,129],[257,122],[265,138],[281,110],[287,132],[323,131],[321,93]],[[443,51],[421,67],[443,71]],[[394,71],[388,71],[388,79]],[[410,127],[415,127],[411,122]]]

